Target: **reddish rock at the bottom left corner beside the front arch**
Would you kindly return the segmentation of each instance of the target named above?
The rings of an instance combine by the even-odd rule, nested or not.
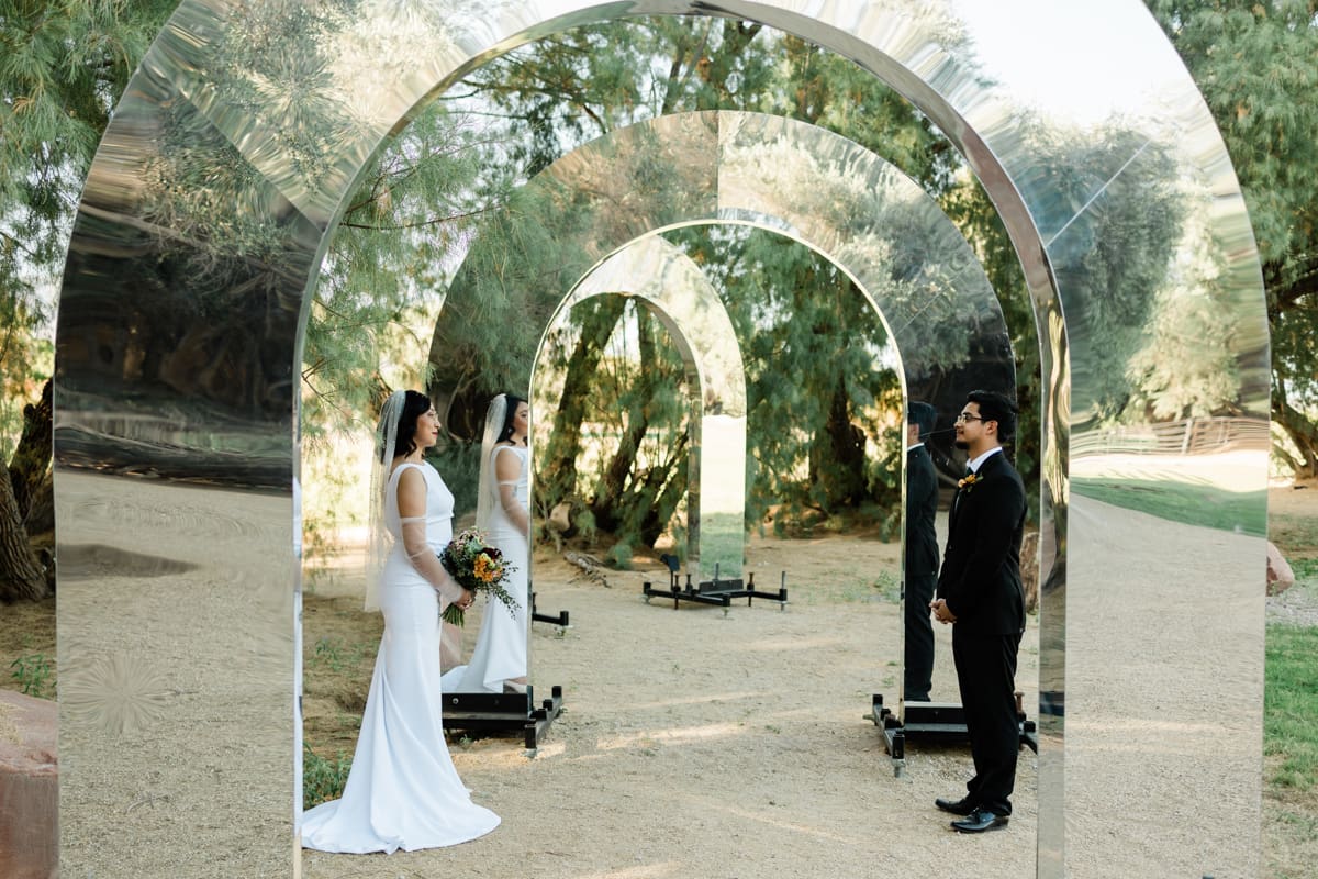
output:
[[[0,876],[59,875],[59,767],[53,701],[0,691]]]

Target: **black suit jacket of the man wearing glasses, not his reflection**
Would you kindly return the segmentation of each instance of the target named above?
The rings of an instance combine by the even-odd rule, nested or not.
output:
[[[962,635],[1011,635],[1025,630],[1020,538],[1025,486],[1003,452],[986,460],[975,484],[957,490],[948,518],[948,547],[938,597]]]

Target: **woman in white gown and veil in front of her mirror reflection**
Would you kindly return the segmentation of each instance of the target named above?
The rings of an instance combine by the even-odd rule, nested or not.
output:
[[[472,593],[453,582],[436,555],[453,534],[453,496],[422,459],[438,438],[439,416],[424,394],[397,391],[385,403],[366,571],[366,609],[384,611],[385,635],[343,799],[302,816],[308,849],[434,849],[474,839],[500,822],[472,803],[440,722],[440,596],[465,608]],[[386,530],[393,538],[387,555]]]

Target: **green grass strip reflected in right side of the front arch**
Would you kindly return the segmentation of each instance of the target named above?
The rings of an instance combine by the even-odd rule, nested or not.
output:
[[[1155,480],[1072,480],[1075,494],[1160,519],[1219,531],[1268,532],[1268,493],[1224,492],[1211,485]]]

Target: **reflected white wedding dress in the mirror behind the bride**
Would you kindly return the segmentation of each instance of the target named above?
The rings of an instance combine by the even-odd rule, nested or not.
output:
[[[515,455],[521,461],[517,480],[513,482],[497,482],[498,476],[494,460],[500,455]],[[523,510],[530,509],[530,452],[521,445],[496,445],[490,452],[489,472],[493,486],[485,490],[494,492],[500,498],[500,488],[510,485],[513,488],[513,501]],[[526,677],[526,608],[530,604],[527,589],[527,567],[530,552],[527,535],[503,510],[503,505],[496,501],[490,509],[489,532],[485,535],[490,546],[500,548],[503,557],[514,565],[514,571],[507,577],[507,590],[517,601],[517,610],[510,610],[503,602],[488,600],[485,602],[485,615],[481,621],[481,631],[476,637],[476,650],[472,651],[472,660],[467,666],[459,666],[444,672],[444,691],[449,693],[502,693],[503,681],[517,677]]]

